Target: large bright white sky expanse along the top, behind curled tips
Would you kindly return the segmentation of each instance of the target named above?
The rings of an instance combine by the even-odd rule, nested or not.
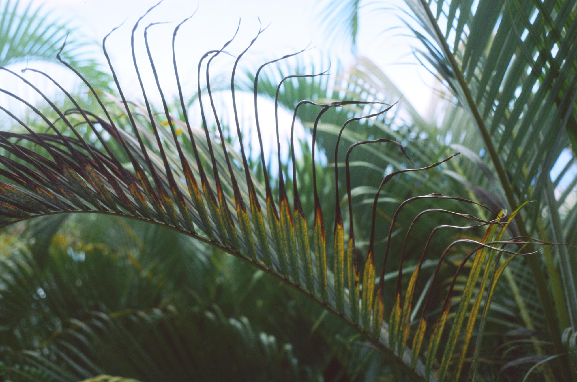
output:
[[[34,5],[52,9],[55,17],[68,21],[76,26],[89,39],[100,41],[114,27],[124,25],[108,39],[108,49],[120,78],[130,78],[134,69],[130,56],[130,30],[132,25],[144,12],[156,3],[156,0],[33,0]],[[379,2],[387,5],[386,1]],[[391,0],[389,6],[395,3]],[[198,7],[196,15],[183,25],[177,40],[177,52],[181,62],[189,61],[191,66],[203,52],[222,46],[223,42],[233,36],[242,19],[238,36],[230,46],[231,53],[238,53],[253,38],[258,30],[260,18],[263,25],[269,25],[246,55],[246,61],[260,63],[264,59],[299,51],[310,43],[316,47],[307,52],[312,59],[320,56],[338,56],[344,62],[351,62],[350,50],[344,44],[327,44],[326,29],[320,22],[319,2],[314,0],[264,1],[264,0],[165,0],[156,7],[145,20],[142,27],[149,22],[173,22],[158,25],[151,29],[149,42],[158,60],[161,82],[171,80],[171,33],[183,18],[190,16]],[[385,70],[403,91],[404,96],[415,104],[418,110],[424,111],[429,101],[429,88],[432,77],[417,65],[411,53],[411,45],[417,44],[407,28],[399,20],[399,12],[390,10],[361,10],[358,54],[368,56]],[[336,28],[342,28],[336,26]],[[392,29],[391,28],[398,28]],[[384,32],[387,31],[388,32]],[[137,56],[145,57],[142,33],[137,33]],[[231,60],[227,64],[230,65]],[[402,65],[409,63],[409,65]],[[191,68],[192,69],[192,68]],[[215,69],[218,67],[215,66]],[[152,80],[152,76],[143,75]],[[166,80],[166,81],[163,81]],[[130,81],[132,82],[132,81]],[[196,81],[194,81],[196,82]],[[153,83],[152,83],[153,84]],[[137,84],[130,84],[131,89],[138,90]],[[130,86],[129,85],[129,86]]]

